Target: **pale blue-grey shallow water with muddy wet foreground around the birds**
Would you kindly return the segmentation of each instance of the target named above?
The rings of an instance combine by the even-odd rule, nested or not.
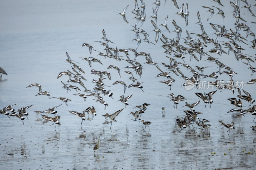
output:
[[[189,1],[189,24],[186,27],[183,18],[173,15],[178,11],[172,1],[167,1],[165,7],[162,2],[157,12],[157,25],[164,22],[164,18],[169,14],[167,21],[170,31],[174,30],[172,19],[182,28],[181,37],[185,38],[186,29],[189,33],[201,33],[200,26],[194,23],[198,22],[196,13],[199,10],[204,29],[210,37],[216,38],[216,35],[211,35],[214,30],[209,23],[223,25],[223,20],[220,16],[214,15],[209,21],[206,19],[210,13],[205,13],[205,9],[197,8],[202,6],[204,1]],[[40,3],[40,4],[39,4]],[[100,5],[98,5],[100,3]],[[151,5],[154,1],[145,2],[147,19],[142,25],[142,28],[149,33],[150,40],[154,43],[155,33],[151,32],[153,26],[150,23],[152,15]],[[180,6],[185,1],[179,1]],[[242,3],[242,2],[241,2]],[[253,2],[250,2],[253,3]],[[195,103],[199,99],[195,95],[196,92],[215,91],[211,89],[205,90],[186,90],[181,87],[184,80],[174,74],[170,74],[175,82],[172,83],[171,91],[167,85],[158,83],[158,81],[166,78],[158,77],[160,73],[155,66],[143,65],[143,74],[141,78],[133,73],[135,78],[140,78],[139,81],[144,82],[142,92],[137,88],[128,88],[124,94],[123,85],[112,85],[116,80],[124,81],[127,85],[132,84],[128,78],[130,75],[124,71],[132,71],[131,69],[123,69],[129,64],[117,62],[113,59],[105,59],[92,50],[92,55],[87,47],[82,47],[83,43],[89,43],[93,49],[104,52],[99,43],[94,41],[102,41],[102,29],[105,30],[107,38],[115,42],[109,44],[115,48],[136,48],[137,43],[132,41],[134,33],[130,25],[135,24],[131,10],[134,8],[134,1],[129,3],[113,1],[8,1],[0,2],[1,17],[0,21],[2,30],[0,33],[0,66],[8,73],[8,76],[3,75],[3,81],[0,81],[0,108],[10,104],[15,110],[21,107],[32,105],[27,111],[28,119],[22,122],[15,118],[9,119],[7,116],[1,115],[0,124],[0,165],[3,169],[214,169],[214,168],[255,168],[255,131],[250,128],[255,123],[252,121],[253,116],[245,114],[245,116],[237,117],[236,113],[227,113],[228,110],[234,108],[227,100],[228,98],[236,97],[229,90],[223,90],[222,93],[217,91],[213,95],[211,109],[209,105],[204,107],[204,103],[200,101],[195,107],[196,111],[203,112],[200,118],[210,121],[211,127],[207,133],[204,133],[199,127],[191,129],[183,129],[180,131],[178,125],[175,124],[177,116],[183,116],[184,110],[188,108],[184,106],[184,102],[180,102],[177,109],[173,108],[173,102],[169,101],[168,94],[174,93],[186,97],[186,102]],[[126,24],[120,15],[123,8],[129,4],[126,11],[126,18],[129,24]],[[140,4],[140,2],[138,2]],[[234,30],[235,19],[232,18],[232,7],[228,2],[223,2],[227,8],[225,12],[226,29]],[[96,7],[97,5],[97,7]],[[204,4],[203,4],[204,5]],[[215,2],[209,2],[206,6],[218,6]],[[241,4],[240,4],[241,6]],[[218,6],[219,7],[219,6]],[[42,10],[44,9],[44,10]],[[255,11],[255,8],[252,8]],[[241,9],[241,13],[244,13]],[[249,21],[255,21],[247,12],[242,15],[251,30],[256,30],[255,25]],[[254,19],[254,20],[253,20]],[[139,23],[140,26],[140,23]],[[138,27],[138,26],[137,26]],[[168,38],[176,39],[176,33],[169,34],[164,27],[159,28],[162,33]],[[241,30],[242,32],[242,30]],[[192,35],[192,34],[191,34]],[[245,33],[243,33],[245,36]],[[193,36],[197,39],[196,36]],[[162,38],[160,34],[159,38]],[[252,36],[247,38],[249,45],[242,45],[246,51],[245,54],[254,55],[255,50],[249,48],[252,41]],[[228,41],[220,38],[219,41]],[[180,40],[180,43],[183,40]],[[156,43],[156,46],[141,42],[138,51],[150,53],[156,63],[169,64],[168,58],[165,57],[161,41]],[[183,44],[184,45],[184,44]],[[207,44],[208,45],[208,44]],[[213,48],[212,44],[204,49],[209,51]],[[227,51],[227,49],[224,49]],[[79,62],[77,64],[85,71],[84,77],[87,81],[83,81],[88,89],[92,89],[92,79],[98,79],[97,75],[90,74],[92,69],[107,70],[111,73],[111,81],[107,79],[104,83],[108,86],[106,89],[116,89],[113,91],[113,99],[104,97],[108,102],[106,110],[100,103],[95,103],[92,97],[88,97],[86,102],[81,97],[72,95],[76,92],[71,89],[69,93],[61,88],[63,85],[60,80],[66,82],[68,77],[62,76],[57,79],[61,71],[72,69],[70,64],[64,62],[66,51],[72,60]],[[133,59],[132,52],[129,53]],[[92,63],[92,68],[88,62],[79,59],[81,56],[93,56],[103,63]],[[195,60],[189,61],[189,56],[185,62],[189,65],[212,66],[206,68],[205,74],[211,74],[213,71],[218,71],[219,68],[212,63],[207,63],[207,57],[203,56],[200,63]],[[254,77],[251,77],[251,71],[247,70],[247,65],[236,61],[234,54],[222,54],[221,56],[212,54],[219,60],[233,68],[238,74],[234,74],[234,80],[248,82]],[[138,62],[145,63],[146,60],[142,56],[138,56]],[[178,62],[183,62],[177,59]],[[246,61],[244,61],[246,62]],[[254,63],[251,63],[255,67]],[[109,65],[116,65],[121,69],[121,78],[116,70],[107,69]],[[165,68],[160,65],[160,68]],[[189,71],[180,66],[180,70],[187,76],[191,77]],[[228,75],[219,75],[220,80],[229,80]],[[212,81],[211,78],[206,78],[206,81]],[[51,122],[44,123],[41,116],[36,118],[34,111],[44,111],[48,108],[58,106],[62,103],[60,100],[46,96],[35,96],[38,93],[38,87],[26,88],[32,83],[42,85],[42,91],[50,91],[53,97],[67,97],[72,101],[68,101],[68,107],[63,103],[56,110],[61,116],[61,125],[56,127],[50,126]],[[75,85],[74,83],[72,85]],[[243,84],[243,89],[255,97],[256,92],[254,85]],[[79,87],[80,88],[80,87]],[[81,89],[82,90],[82,89]],[[82,92],[81,92],[82,93]],[[129,99],[126,109],[124,109],[117,117],[117,122],[113,122],[110,129],[110,124],[104,124],[105,118],[101,115],[106,113],[112,114],[117,110],[125,108],[124,104],[119,100],[119,96],[133,96]],[[152,122],[149,128],[138,121],[132,121],[133,116],[128,115],[136,108],[133,107],[149,103],[147,111],[141,116],[141,119]],[[248,103],[243,101],[243,109],[248,108]],[[78,111],[94,106],[97,111],[97,116],[92,121],[86,120],[81,125],[81,119],[68,111]],[[165,107],[165,115],[162,114],[161,108]],[[86,119],[88,115],[86,114]],[[220,126],[218,120],[231,123],[235,122],[235,129],[231,130],[228,135],[227,128]],[[93,147],[100,137],[100,148],[98,154],[93,154]],[[230,149],[230,150],[229,150]],[[244,152],[243,152],[244,151]],[[250,154],[248,154],[251,152]],[[213,153],[213,154],[212,154]],[[214,154],[215,153],[215,154]],[[226,153],[226,155],[224,155]]]

